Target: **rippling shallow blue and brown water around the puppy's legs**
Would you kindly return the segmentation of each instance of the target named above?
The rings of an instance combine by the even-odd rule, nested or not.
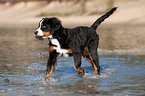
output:
[[[124,28],[120,30],[122,29],[125,30]],[[45,81],[48,58],[47,40],[35,39],[34,30],[0,29],[0,96],[145,95],[145,47],[142,45],[144,43],[142,35],[142,42],[139,37],[136,38],[135,40],[138,41],[134,44],[137,47],[132,48],[132,43],[128,43],[130,41],[120,41],[119,37],[117,38],[118,35],[110,37],[110,33],[114,33],[112,30],[118,32],[118,28],[99,29],[103,30],[99,33],[101,35],[100,48],[102,48],[99,51],[100,75],[95,76],[91,64],[82,59],[82,67],[86,73],[81,77],[73,68],[72,58],[60,57],[53,76]],[[129,34],[128,30],[129,28],[125,31]],[[137,32],[139,30],[141,29],[138,28]],[[118,34],[123,33],[118,32]],[[127,37],[121,38],[124,40]],[[129,36],[129,38],[134,37]],[[108,44],[108,42],[113,43]],[[122,42],[129,45],[124,46]],[[132,48],[132,51],[128,52],[129,48]],[[141,51],[136,51],[134,48]],[[41,51],[43,54],[40,54]],[[124,53],[121,54],[122,52]]]

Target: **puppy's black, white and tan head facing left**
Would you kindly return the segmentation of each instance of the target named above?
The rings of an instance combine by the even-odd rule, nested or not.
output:
[[[34,32],[34,36],[39,40],[43,40],[44,38],[52,38],[53,34],[60,28],[60,26],[61,22],[56,17],[43,18],[39,22],[39,27]]]

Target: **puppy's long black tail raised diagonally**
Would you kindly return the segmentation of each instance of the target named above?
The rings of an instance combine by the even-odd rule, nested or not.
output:
[[[93,25],[91,26],[94,29],[97,29],[97,27],[106,19],[108,18],[112,13],[114,13],[114,11],[117,9],[118,7],[114,7],[112,8],[109,12],[107,12],[106,14],[102,15],[100,18],[98,18]]]

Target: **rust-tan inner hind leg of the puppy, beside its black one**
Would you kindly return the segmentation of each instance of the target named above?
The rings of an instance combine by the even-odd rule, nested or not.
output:
[[[84,51],[83,51],[83,57],[92,64],[92,67],[93,67],[93,70],[95,72],[95,75],[99,74],[99,72],[97,71],[98,68],[97,68],[96,64],[93,62],[93,58],[91,57],[91,55],[89,53],[88,47],[86,47],[84,49]]]

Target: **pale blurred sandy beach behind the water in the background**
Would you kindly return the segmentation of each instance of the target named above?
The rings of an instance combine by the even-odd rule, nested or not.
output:
[[[107,2],[107,0],[105,0]],[[118,10],[103,24],[121,24],[121,25],[144,25],[145,24],[145,0],[115,0],[114,6],[118,6]],[[43,13],[53,14],[67,12],[75,12],[80,10],[79,4],[73,4],[73,2],[58,1],[47,3],[45,1],[33,1],[33,2],[18,2],[11,5],[9,2],[0,4],[0,27],[37,27]],[[77,25],[90,26],[99,16],[97,12],[93,15],[88,15],[90,12],[101,11],[105,12],[106,3],[101,0],[88,1],[86,3],[87,12],[83,15],[73,14],[70,16],[57,16],[62,24],[66,27],[73,27]]]

